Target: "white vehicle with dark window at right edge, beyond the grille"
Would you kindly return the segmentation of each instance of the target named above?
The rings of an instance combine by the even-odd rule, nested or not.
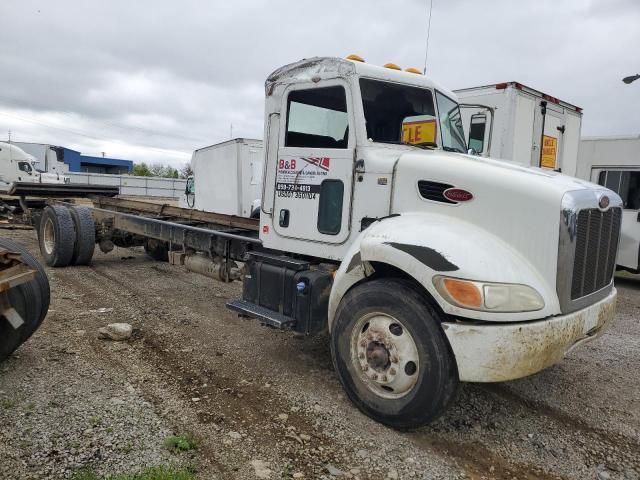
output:
[[[640,135],[587,137],[580,141],[577,177],[622,198],[618,267],[640,273]]]

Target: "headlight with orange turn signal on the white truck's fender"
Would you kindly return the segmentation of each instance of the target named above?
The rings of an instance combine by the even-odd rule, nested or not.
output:
[[[470,310],[532,312],[544,307],[542,296],[527,285],[474,282],[442,276],[436,276],[433,284],[447,302]]]

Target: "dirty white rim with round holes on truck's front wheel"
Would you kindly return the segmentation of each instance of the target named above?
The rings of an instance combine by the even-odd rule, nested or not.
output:
[[[386,313],[369,313],[355,323],[351,362],[360,381],[382,398],[404,397],[418,382],[416,342],[402,322]]]

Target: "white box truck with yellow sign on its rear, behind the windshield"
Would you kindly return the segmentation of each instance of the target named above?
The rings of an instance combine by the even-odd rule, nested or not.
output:
[[[582,109],[518,82],[456,90],[469,148],[576,175]]]

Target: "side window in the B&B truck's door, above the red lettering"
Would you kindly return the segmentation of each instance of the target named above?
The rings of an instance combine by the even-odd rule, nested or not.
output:
[[[286,147],[347,148],[348,126],[344,87],[295,90],[289,94]]]

